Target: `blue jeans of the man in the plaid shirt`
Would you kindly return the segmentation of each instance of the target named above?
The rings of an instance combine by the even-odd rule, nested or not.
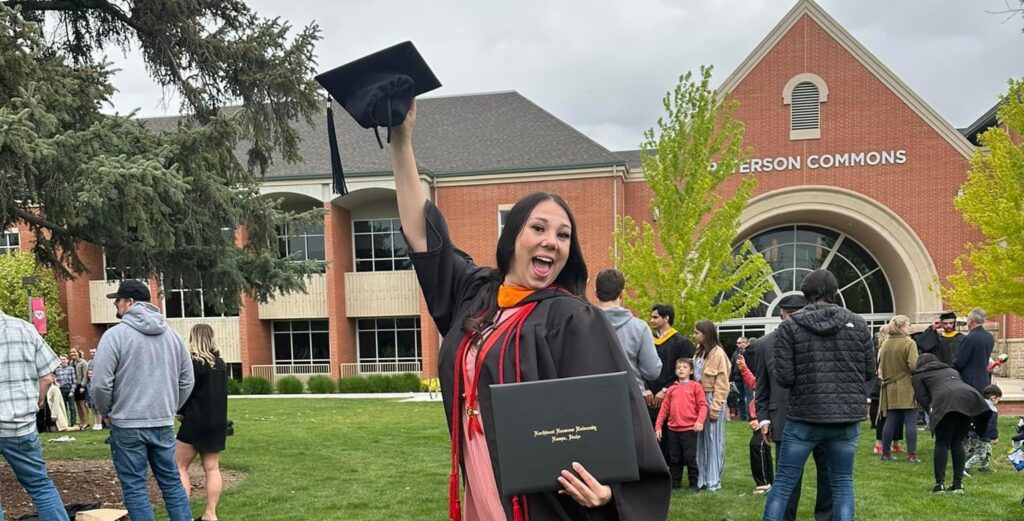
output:
[[[0,437],[0,453],[7,460],[17,482],[32,496],[39,519],[68,521],[68,511],[63,508],[60,493],[46,473],[42,448],[43,444],[39,441],[37,432],[25,436]],[[2,508],[0,508],[0,521],[3,521]]]

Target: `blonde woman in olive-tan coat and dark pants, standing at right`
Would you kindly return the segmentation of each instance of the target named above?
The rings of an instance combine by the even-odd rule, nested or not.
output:
[[[882,328],[879,349],[879,414],[886,417],[882,430],[882,460],[890,453],[896,426],[903,423],[909,463],[918,463],[918,403],[913,399],[911,376],[918,366],[918,346],[910,340],[910,319],[896,315]]]

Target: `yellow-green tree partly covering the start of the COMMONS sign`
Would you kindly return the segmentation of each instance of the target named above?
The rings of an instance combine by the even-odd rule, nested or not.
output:
[[[699,78],[682,76],[665,96],[656,131],[644,133],[640,156],[656,227],[626,217],[615,233],[628,304],[672,304],[684,332],[701,318],[743,316],[772,287],[771,269],[750,242],[734,248],[757,179],[743,177],[732,194],[719,189],[749,153],[732,116],[737,103],[712,90],[711,74],[701,67]]]

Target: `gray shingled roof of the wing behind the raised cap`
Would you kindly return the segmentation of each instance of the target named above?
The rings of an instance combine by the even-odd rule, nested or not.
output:
[[[416,160],[421,168],[439,177],[625,164],[518,92],[426,97],[416,103]],[[345,175],[390,172],[387,150],[377,145],[373,131],[359,127],[340,106],[335,105],[334,113]],[[151,128],[173,130],[177,120],[143,121]],[[326,116],[316,118],[313,125],[296,125],[302,138],[299,155],[304,161],[290,164],[275,160],[266,178],[329,178]],[[386,129],[380,132],[384,139]],[[238,150],[243,162],[245,148]]]

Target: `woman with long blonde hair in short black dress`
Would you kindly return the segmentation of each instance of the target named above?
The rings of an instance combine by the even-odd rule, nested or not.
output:
[[[196,387],[185,404],[178,411],[181,428],[175,460],[185,492],[191,495],[188,465],[198,454],[206,474],[206,510],[199,518],[216,521],[217,502],[220,500],[220,451],[227,436],[227,366],[213,341],[213,328],[197,323],[188,333],[188,351],[191,352]]]

